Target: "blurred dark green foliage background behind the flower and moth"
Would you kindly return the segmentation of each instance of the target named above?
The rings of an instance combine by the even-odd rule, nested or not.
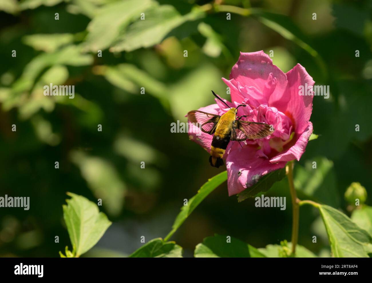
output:
[[[28,211],[0,208],[0,256],[58,257],[71,248],[62,214],[68,191],[102,199],[113,222],[86,256],[125,256],[141,236],[164,237],[184,199],[225,170],[170,124],[214,103],[211,90],[228,98],[221,77],[240,51],[272,50],[284,72],[300,63],[317,85],[330,86],[328,100],[314,97],[319,138],[295,164],[299,197],[350,215],[343,195],[360,182],[371,205],[371,8],[372,1],[0,0],[0,196],[30,197]],[[227,20],[226,9],[238,13]],[[74,85],[75,98],[44,96],[50,83]],[[290,241],[286,178],[265,195],[286,196],[286,210],[238,203],[224,183],[172,240],[184,256],[214,233],[257,248]],[[311,207],[300,210],[299,244],[329,256]]]

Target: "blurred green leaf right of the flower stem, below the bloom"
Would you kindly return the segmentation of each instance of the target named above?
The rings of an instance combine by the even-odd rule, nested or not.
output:
[[[316,168],[313,168],[316,162]],[[305,162],[305,167],[296,164],[294,168],[295,188],[308,198],[333,207],[339,207],[340,199],[336,185],[333,162],[325,157],[315,157]]]

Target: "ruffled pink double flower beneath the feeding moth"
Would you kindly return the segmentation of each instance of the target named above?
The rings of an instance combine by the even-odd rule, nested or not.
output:
[[[309,93],[313,93],[314,81],[300,64],[284,74],[263,51],[241,52],[230,80],[222,80],[230,87],[232,102],[225,101],[230,107],[247,104],[238,108],[238,116],[249,115],[243,120],[272,124],[275,129],[270,136],[241,142],[243,147],[239,142],[228,144],[224,159],[231,196],[254,185],[263,175],[283,168],[286,162],[300,159],[312,133],[309,120],[313,96],[299,95],[299,86],[307,83]],[[226,105],[215,101],[217,104],[199,110],[218,115],[227,112]],[[212,135],[189,123],[189,137],[210,152]]]

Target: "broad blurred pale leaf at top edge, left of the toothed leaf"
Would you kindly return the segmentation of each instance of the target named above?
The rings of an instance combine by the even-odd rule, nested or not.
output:
[[[84,48],[95,53],[107,49],[132,20],[155,3],[153,0],[126,0],[103,6],[87,26],[89,33]]]

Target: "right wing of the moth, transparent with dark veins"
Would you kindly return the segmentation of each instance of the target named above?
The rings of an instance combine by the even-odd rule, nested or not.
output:
[[[241,142],[246,139],[260,139],[272,133],[270,128],[270,125],[264,123],[235,120],[232,123],[230,140],[237,140]]]

